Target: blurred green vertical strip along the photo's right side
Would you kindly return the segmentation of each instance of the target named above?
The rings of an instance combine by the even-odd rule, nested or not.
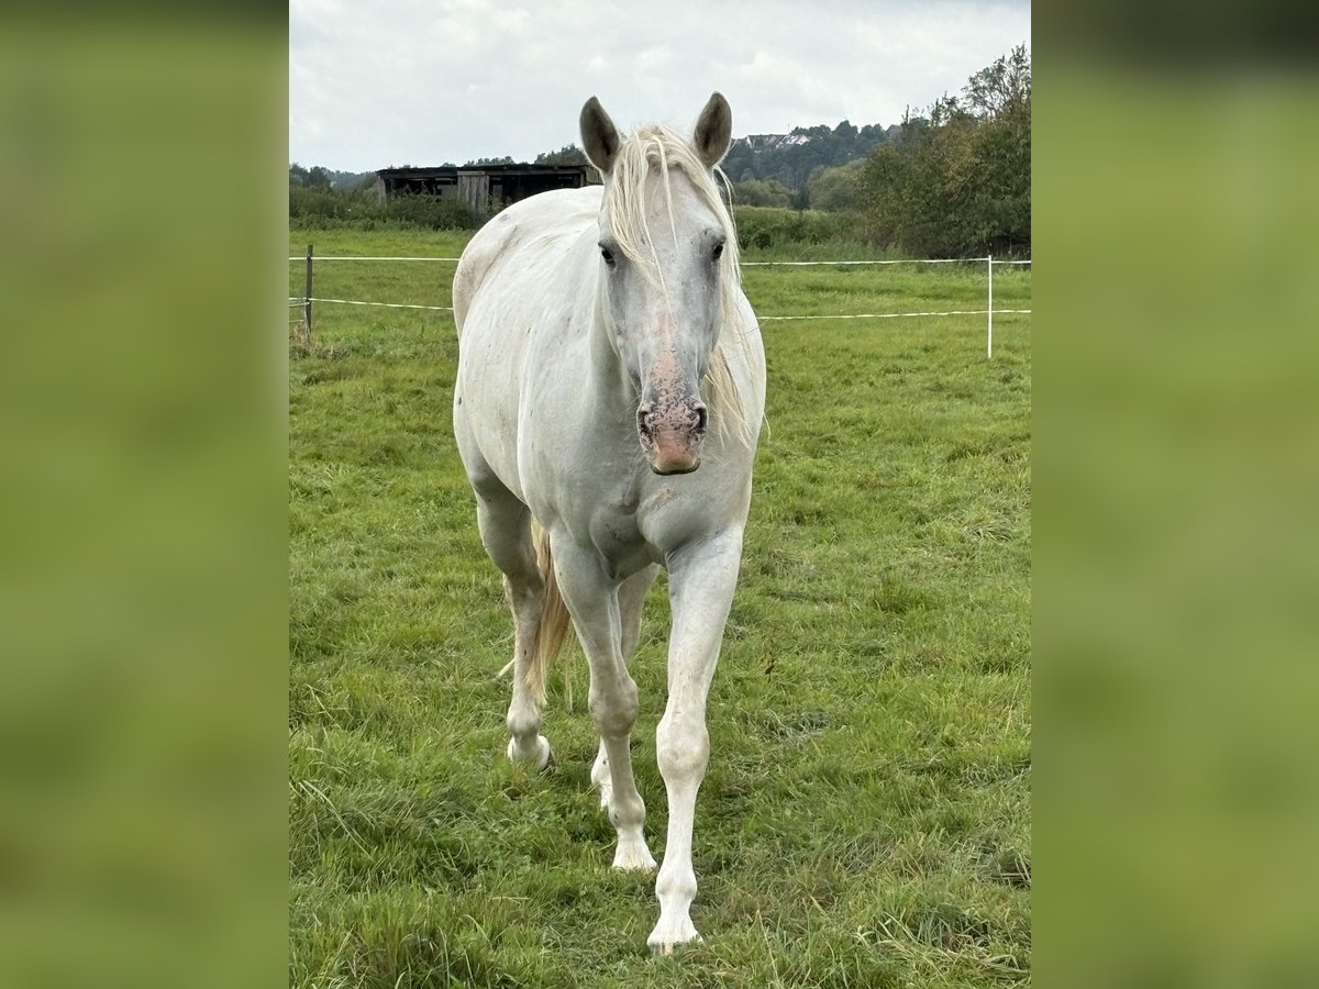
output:
[[[1295,13],[1034,20],[1045,985],[1319,977],[1319,63]]]

